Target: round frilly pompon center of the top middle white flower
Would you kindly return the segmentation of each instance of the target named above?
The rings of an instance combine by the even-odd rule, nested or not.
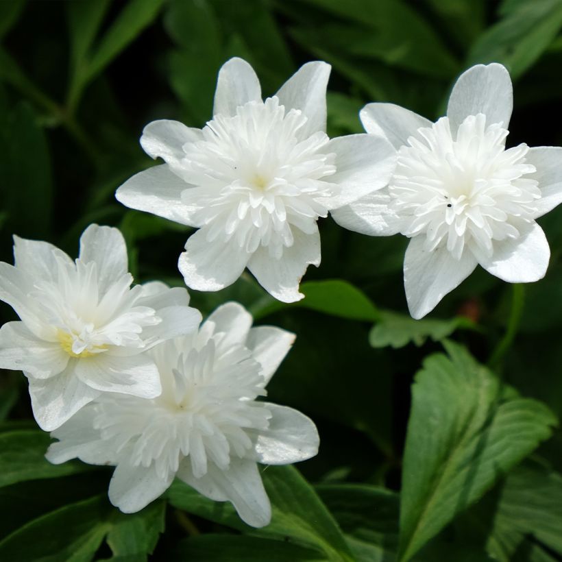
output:
[[[194,222],[208,225],[207,239],[234,239],[247,252],[259,245],[280,258],[293,245],[292,228],[306,234],[328,210],[321,201],[337,188],[335,154],[323,132],[306,136],[307,119],[288,112],[277,97],[249,101],[236,115],[215,115],[203,140],[186,143],[175,173],[196,186],[182,201],[198,208]]]

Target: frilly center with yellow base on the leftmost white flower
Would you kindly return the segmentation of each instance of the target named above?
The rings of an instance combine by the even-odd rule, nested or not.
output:
[[[49,326],[45,337],[58,341],[71,357],[91,357],[110,347],[145,347],[143,329],[162,319],[156,310],[138,306],[142,287],[126,274],[103,293],[95,262],[58,261],[56,281],[38,282],[32,297]]]

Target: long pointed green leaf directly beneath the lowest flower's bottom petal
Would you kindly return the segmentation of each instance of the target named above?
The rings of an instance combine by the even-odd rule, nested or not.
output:
[[[175,480],[166,496],[179,508],[245,533],[289,540],[323,552],[330,561],[350,561],[351,554],[341,530],[314,489],[292,466],[267,467],[262,472],[271,501],[271,523],[261,529],[245,525],[230,503],[217,503],[200,496],[193,488]]]

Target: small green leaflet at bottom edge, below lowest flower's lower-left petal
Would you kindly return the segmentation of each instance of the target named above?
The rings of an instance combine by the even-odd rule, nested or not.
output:
[[[107,541],[117,557],[141,557],[156,547],[160,533],[164,531],[166,503],[152,502],[143,511],[125,515],[119,513],[108,533]]]

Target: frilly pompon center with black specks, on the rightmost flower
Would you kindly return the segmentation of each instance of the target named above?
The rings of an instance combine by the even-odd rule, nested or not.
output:
[[[446,246],[460,259],[465,248],[491,256],[493,241],[516,239],[537,212],[536,171],[528,146],[505,148],[508,131],[467,117],[454,138],[449,119],[419,129],[398,153],[389,185],[402,234],[426,236],[425,249]]]

